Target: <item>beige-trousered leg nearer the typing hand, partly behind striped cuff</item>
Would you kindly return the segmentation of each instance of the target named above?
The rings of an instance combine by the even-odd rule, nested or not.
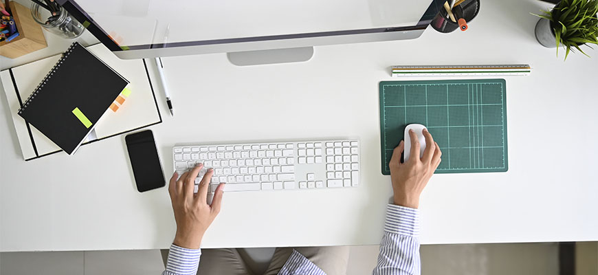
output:
[[[166,266],[168,250],[162,250],[162,260]],[[166,253],[164,253],[166,252]],[[197,274],[252,275],[236,248],[215,248],[201,250]]]

